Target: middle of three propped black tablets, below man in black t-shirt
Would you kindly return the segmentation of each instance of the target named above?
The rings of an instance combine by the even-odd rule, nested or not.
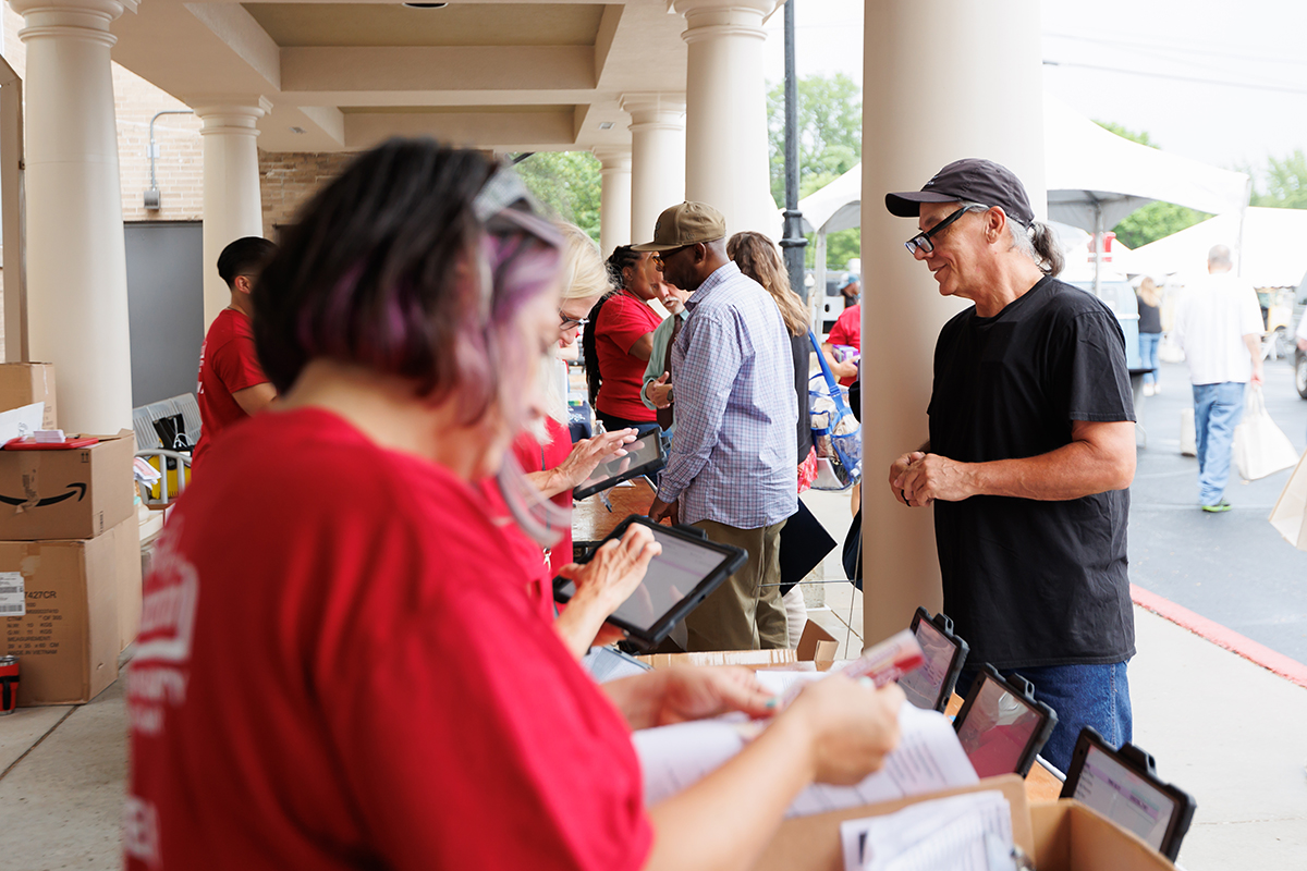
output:
[[[953,721],[979,777],[1025,777],[1056,725],[1057,713],[1035,701],[1029,680],[1016,674],[1004,679],[989,663],[976,675]]]

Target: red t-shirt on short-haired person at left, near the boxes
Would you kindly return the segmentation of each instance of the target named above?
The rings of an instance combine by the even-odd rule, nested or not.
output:
[[[263,373],[254,351],[250,319],[244,312],[223,308],[209,324],[209,333],[200,346],[200,383],[195,392],[201,430],[192,466],[209,452],[220,432],[250,417],[231,394],[267,381],[268,376]]]

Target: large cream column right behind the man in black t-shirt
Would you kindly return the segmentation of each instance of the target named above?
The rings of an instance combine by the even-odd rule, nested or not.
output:
[[[1038,0],[865,4],[863,572],[874,602],[863,610],[868,642],[908,626],[919,605],[941,607],[932,509],[906,508],[885,482],[894,458],[927,439],[935,341],[970,304],[940,296],[927,268],[903,248],[916,222],[886,212],[885,195],[920,189],[950,161],[983,157],[1021,178],[1043,218],[1039,39]],[[984,60],[974,63],[976,46],[984,46]]]

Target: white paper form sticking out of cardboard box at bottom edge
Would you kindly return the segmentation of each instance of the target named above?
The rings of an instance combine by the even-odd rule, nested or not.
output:
[[[1000,791],[912,804],[839,827],[846,871],[1001,871],[1013,867],[1012,808]]]

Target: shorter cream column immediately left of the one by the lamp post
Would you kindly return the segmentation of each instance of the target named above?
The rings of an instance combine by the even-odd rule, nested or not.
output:
[[[631,238],[648,242],[663,209],[685,200],[685,95],[623,94],[631,124]]]

